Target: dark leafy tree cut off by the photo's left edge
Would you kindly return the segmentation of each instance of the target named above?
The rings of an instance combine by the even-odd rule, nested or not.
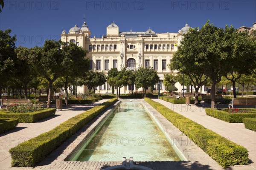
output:
[[[16,35],[10,36],[11,32],[10,29],[0,30],[0,98],[3,85],[14,75]]]

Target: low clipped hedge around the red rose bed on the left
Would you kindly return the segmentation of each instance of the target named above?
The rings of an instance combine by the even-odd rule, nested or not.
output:
[[[9,113],[8,111],[1,111],[0,117],[19,119],[20,123],[33,123],[38,120],[55,115],[55,108],[44,109],[31,113]]]

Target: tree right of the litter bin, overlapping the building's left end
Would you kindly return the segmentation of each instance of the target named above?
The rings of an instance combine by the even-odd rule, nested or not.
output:
[[[88,71],[90,66],[90,60],[86,58],[86,51],[84,48],[77,46],[73,42],[70,42],[69,45],[62,45],[62,50],[64,51],[64,71],[62,72],[63,77],[65,78],[65,105],[68,104],[68,83],[70,77],[77,78],[81,76],[84,72]],[[73,81],[74,82],[74,81]]]

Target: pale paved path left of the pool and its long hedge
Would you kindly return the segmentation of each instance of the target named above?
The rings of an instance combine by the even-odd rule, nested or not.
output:
[[[55,116],[42,119],[35,123],[19,123],[14,130],[0,134],[0,170],[5,170],[11,165],[9,149],[34,138],[41,133],[52,130],[62,122],[76,116],[95,105],[106,102],[108,99],[100,100],[88,105],[75,105],[64,107],[62,111],[56,111]]]

